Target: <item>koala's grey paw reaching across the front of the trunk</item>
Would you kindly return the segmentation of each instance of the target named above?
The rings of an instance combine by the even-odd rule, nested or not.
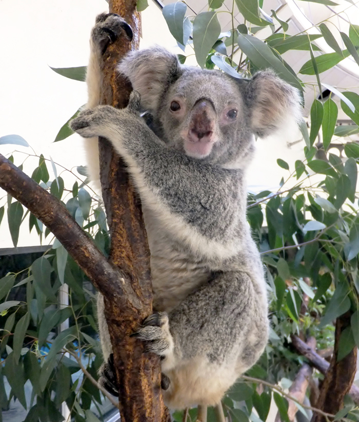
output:
[[[111,106],[97,106],[82,111],[70,121],[70,128],[84,138],[106,136],[108,122],[114,119],[117,110]]]

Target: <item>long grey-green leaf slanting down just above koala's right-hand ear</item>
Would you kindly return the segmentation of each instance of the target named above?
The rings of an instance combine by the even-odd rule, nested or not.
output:
[[[285,67],[280,59],[273,54],[270,47],[261,39],[253,35],[239,34],[237,42],[240,49],[258,69],[272,68],[278,76],[303,91],[303,87],[297,77]]]

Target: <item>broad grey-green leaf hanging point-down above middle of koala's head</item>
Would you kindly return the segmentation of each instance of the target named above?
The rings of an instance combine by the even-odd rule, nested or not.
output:
[[[205,67],[207,54],[221,33],[216,12],[198,13],[193,22],[193,48],[197,63]]]

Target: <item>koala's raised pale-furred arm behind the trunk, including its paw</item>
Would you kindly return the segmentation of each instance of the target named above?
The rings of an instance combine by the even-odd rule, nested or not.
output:
[[[121,16],[114,13],[102,13],[96,17],[96,23],[90,37],[90,59],[87,66],[86,84],[88,101],[86,109],[99,105],[100,87],[102,85],[103,55],[107,47],[114,43],[122,31],[128,38],[132,38],[132,30]],[[99,183],[98,138],[90,138],[84,143],[86,153],[87,172],[98,192]]]

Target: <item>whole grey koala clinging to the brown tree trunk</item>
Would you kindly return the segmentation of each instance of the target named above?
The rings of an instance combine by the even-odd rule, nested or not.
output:
[[[97,137],[103,136],[125,160],[141,199],[154,314],[134,335],[162,358],[166,405],[213,406],[267,344],[266,281],[246,220],[246,169],[256,136],[300,120],[300,96],[270,70],[238,79],[182,66],[155,46],[118,64],[133,87],[128,107],[99,106],[99,63],[120,36],[131,37],[122,17],[97,17],[89,101],[71,128],[88,138],[91,178],[99,177]],[[153,127],[141,111],[151,114]],[[116,394],[103,308],[99,296],[102,383]]]

